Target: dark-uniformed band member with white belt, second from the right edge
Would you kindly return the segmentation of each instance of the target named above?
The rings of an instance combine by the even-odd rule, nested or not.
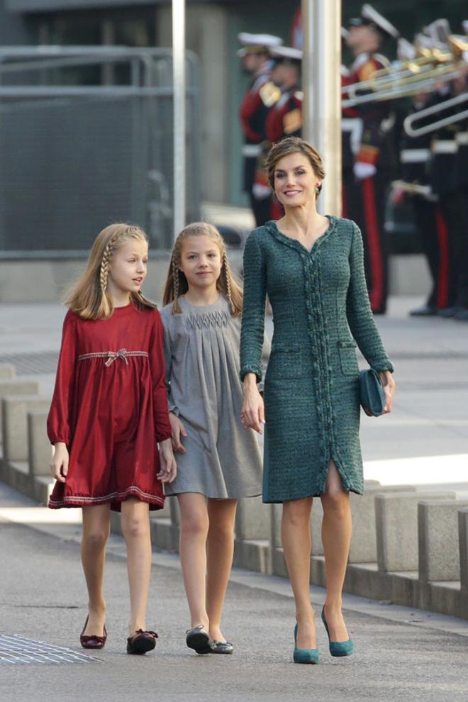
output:
[[[431,95],[420,93],[413,98],[410,114],[428,106]],[[411,137],[403,130],[400,143],[401,185],[392,193],[392,201],[399,204],[405,197],[411,201],[420,243],[428,261],[432,286],[423,306],[411,310],[412,316],[435,315],[448,306],[449,243],[447,225],[442,216],[438,196],[430,186],[430,143],[432,135]]]

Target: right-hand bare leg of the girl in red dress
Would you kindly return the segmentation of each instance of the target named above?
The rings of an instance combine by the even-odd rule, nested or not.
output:
[[[147,502],[129,497],[122,502],[122,533],[127,545],[130,620],[128,635],[146,630],[146,607],[151,576],[151,534]]]

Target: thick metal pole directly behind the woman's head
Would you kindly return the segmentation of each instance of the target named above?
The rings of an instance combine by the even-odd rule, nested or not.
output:
[[[327,175],[317,204],[341,213],[341,1],[302,0],[303,137],[320,152]]]

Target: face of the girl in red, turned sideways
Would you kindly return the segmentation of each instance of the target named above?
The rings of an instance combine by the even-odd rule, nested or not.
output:
[[[131,239],[114,252],[108,267],[107,289],[113,296],[138,292],[147,272],[148,247]]]

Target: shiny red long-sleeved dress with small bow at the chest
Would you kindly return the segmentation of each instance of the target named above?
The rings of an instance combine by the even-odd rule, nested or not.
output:
[[[48,437],[67,444],[69,468],[50,508],[110,502],[121,511],[129,496],[164,506],[156,442],[171,428],[162,343],[155,309],[130,304],[106,320],[67,312]]]

